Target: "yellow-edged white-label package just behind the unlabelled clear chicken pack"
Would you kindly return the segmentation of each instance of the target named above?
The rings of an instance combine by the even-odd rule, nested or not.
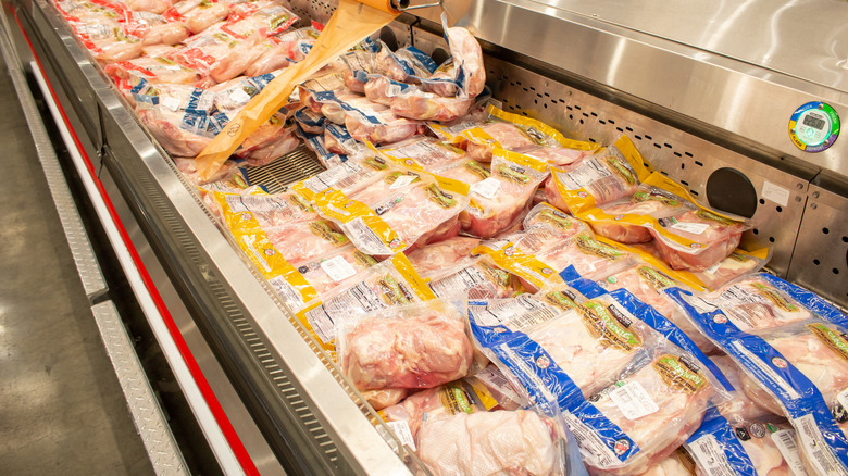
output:
[[[382,309],[436,299],[403,253],[314,299],[296,315],[324,349],[335,352],[336,329]]]

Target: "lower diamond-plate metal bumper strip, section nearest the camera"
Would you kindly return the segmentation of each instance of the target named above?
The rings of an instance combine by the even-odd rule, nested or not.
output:
[[[91,306],[138,436],[158,475],[188,475],[188,467],[159,406],[141,362],[112,301]]]

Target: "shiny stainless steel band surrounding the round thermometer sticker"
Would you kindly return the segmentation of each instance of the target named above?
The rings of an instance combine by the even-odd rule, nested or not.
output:
[[[622,8],[621,14],[640,5]],[[639,103],[656,116],[709,129],[775,159],[848,176],[848,140],[808,153],[788,135],[790,115],[810,101],[828,102],[848,117],[845,90],[531,0],[457,0],[445,10],[451,24],[471,28],[478,38]],[[440,11],[415,14],[438,22]]]

